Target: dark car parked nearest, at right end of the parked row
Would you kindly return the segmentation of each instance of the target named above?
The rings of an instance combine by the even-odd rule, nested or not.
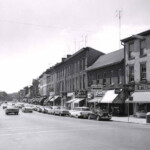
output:
[[[95,109],[92,114],[88,116],[88,119],[96,119],[96,120],[111,120],[112,114],[107,110]]]

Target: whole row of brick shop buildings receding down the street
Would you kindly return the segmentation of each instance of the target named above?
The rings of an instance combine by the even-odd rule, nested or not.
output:
[[[20,98],[69,108],[102,107],[119,115],[144,114],[150,110],[150,30],[121,43],[123,49],[108,54],[85,47],[67,55],[20,90]]]

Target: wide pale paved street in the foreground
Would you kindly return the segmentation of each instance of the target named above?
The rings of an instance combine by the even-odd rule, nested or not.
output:
[[[6,116],[0,107],[0,150],[149,150],[150,126],[53,116]]]

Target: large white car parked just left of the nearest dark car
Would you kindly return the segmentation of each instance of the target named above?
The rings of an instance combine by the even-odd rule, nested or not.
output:
[[[76,107],[69,111],[70,117],[88,118],[90,114],[92,114],[92,111],[88,107]]]

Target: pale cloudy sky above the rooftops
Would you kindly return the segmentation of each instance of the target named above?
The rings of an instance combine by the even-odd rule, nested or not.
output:
[[[83,47],[104,53],[150,29],[150,0],[0,0],[0,91],[18,92]]]

